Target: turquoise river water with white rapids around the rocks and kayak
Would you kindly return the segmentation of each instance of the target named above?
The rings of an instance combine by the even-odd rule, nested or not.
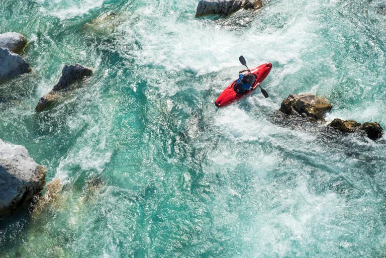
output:
[[[274,115],[311,92],[328,121],[386,128],[386,2],[272,0],[229,19],[195,19],[196,0],[0,3],[33,68],[0,85],[0,138],[64,185],[37,216],[0,220],[0,257],[386,255],[384,138]],[[240,54],[273,64],[270,98],[217,109]],[[35,113],[76,62],[93,75]]]

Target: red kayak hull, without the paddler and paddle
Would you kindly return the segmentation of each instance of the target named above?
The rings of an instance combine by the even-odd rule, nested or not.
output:
[[[257,84],[257,82],[262,82],[267,76],[268,73],[271,71],[272,64],[271,63],[265,63],[262,65],[257,66],[256,68],[251,70],[251,73],[255,75],[255,79],[253,83],[253,87]],[[248,74],[248,73],[247,73]],[[245,74],[245,75],[247,75]],[[220,94],[220,96],[216,100],[216,106],[219,108],[231,105],[233,102],[243,98],[244,96],[247,96],[252,91],[247,91],[245,93],[236,93],[234,90],[234,85],[236,84],[236,81],[233,81],[225,90]],[[251,83],[251,84],[252,84]]]

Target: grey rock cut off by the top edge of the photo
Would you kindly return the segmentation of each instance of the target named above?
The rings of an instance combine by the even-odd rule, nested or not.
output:
[[[196,17],[210,14],[228,16],[242,8],[257,10],[262,6],[261,0],[200,0]]]

